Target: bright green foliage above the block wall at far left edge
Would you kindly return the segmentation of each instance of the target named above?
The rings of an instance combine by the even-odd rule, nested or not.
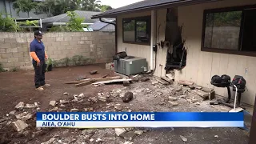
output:
[[[2,15],[3,13],[0,12],[0,31],[16,32],[20,30],[10,15],[6,14],[6,18],[3,18]]]

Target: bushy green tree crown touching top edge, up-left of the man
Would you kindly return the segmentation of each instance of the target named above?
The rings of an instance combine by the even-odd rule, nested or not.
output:
[[[27,13],[27,16],[30,17],[30,11],[34,10],[37,7],[37,2],[33,0],[16,0],[13,5],[14,9],[17,10],[17,14],[22,11]]]

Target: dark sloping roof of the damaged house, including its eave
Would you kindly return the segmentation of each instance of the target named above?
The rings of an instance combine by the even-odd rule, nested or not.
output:
[[[108,10],[101,14],[95,14],[92,18],[114,18],[117,14],[128,13],[136,10],[152,10],[167,8],[170,6],[186,6],[203,2],[215,2],[222,0],[144,0],[117,9]]]

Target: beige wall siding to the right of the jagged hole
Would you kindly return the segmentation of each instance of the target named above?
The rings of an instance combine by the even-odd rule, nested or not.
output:
[[[175,81],[179,79],[191,80],[198,85],[210,85],[210,78],[214,74],[242,75],[246,79],[248,91],[242,94],[241,101],[254,105],[256,93],[256,58],[234,54],[219,54],[201,51],[203,10],[229,6],[243,6],[256,4],[250,0],[226,0],[178,8],[178,24],[183,26],[182,38],[186,39],[188,55],[186,67],[182,71],[175,70]],[[246,74],[246,68],[248,69]],[[227,90],[214,87],[216,94],[227,97]],[[234,92],[231,92],[234,98]]]

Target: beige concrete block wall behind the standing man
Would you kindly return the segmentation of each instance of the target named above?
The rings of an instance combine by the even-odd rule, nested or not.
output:
[[[33,39],[33,33],[0,33],[0,63],[3,68],[33,69],[30,58],[30,42]],[[42,38],[46,53],[54,60],[82,55],[94,59],[94,63],[112,61],[114,40],[113,32],[46,33]]]

